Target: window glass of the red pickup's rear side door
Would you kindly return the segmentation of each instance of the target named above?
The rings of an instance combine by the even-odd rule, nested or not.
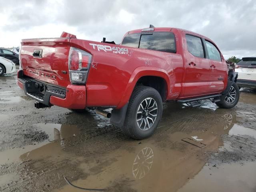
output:
[[[203,48],[201,38],[186,34],[186,41],[187,41],[188,51],[192,55],[196,57],[204,58],[204,48]]]

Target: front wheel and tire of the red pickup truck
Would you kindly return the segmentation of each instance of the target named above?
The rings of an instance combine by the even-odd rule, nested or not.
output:
[[[232,93],[236,94],[235,99],[233,99],[234,95],[232,96]],[[232,96],[232,98],[230,96]],[[233,108],[238,103],[239,97],[240,97],[239,88],[238,88],[237,84],[234,82],[232,84],[232,86],[230,87],[228,94],[222,95],[220,98],[220,102],[216,102],[216,105],[219,106],[220,108],[226,108],[226,109]],[[228,98],[230,98],[230,100],[232,100],[232,102],[230,102],[230,100],[228,100]]]

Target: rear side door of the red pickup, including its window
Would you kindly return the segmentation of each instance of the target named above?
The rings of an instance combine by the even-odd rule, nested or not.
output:
[[[200,36],[183,32],[186,54],[185,91],[182,97],[208,94],[210,63]]]

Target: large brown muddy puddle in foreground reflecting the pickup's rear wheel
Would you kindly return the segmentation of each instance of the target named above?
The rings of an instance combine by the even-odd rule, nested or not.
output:
[[[213,130],[215,128],[217,126]],[[110,191],[176,191],[203,168],[206,161],[202,154],[205,151],[217,150],[223,145],[212,131],[158,132],[158,136],[160,140],[157,136],[142,141],[125,140],[122,145],[113,144],[116,150],[97,159],[86,158],[86,163],[80,162],[78,167],[89,176],[86,180],[72,181],[72,184],[83,188],[108,188]],[[192,136],[202,138],[207,146],[199,148],[182,141]],[[94,142],[90,141],[90,145],[86,146],[89,152],[95,150]],[[101,146],[103,150],[104,145],[108,143]],[[55,191],[76,189],[65,185]]]

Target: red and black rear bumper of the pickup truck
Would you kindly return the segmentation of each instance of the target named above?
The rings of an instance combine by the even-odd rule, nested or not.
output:
[[[69,109],[84,109],[86,107],[86,86],[70,84],[65,89],[22,76],[20,71],[17,83],[28,97],[46,106],[56,105]]]

